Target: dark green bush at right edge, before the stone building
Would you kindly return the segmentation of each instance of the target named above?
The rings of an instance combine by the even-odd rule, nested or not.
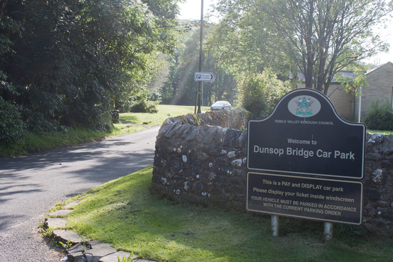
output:
[[[379,101],[372,102],[363,122],[368,129],[393,130],[392,105],[389,101],[384,101],[382,104]]]

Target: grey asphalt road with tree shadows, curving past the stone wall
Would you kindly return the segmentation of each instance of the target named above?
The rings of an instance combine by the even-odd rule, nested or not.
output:
[[[54,204],[153,164],[159,126],[45,154],[0,158],[0,262],[58,262],[39,235]]]

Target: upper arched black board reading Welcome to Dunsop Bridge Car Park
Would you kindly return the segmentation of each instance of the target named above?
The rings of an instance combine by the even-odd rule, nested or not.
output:
[[[361,179],[364,159],[365,124],[338,116],[314,89],[287,93],[270,116],[248,123],[252,171]]]

